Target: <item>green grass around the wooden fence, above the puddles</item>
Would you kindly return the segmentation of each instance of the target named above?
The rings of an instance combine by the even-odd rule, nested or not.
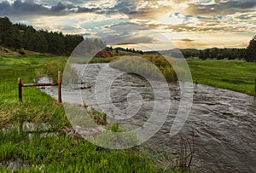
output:
[[[0,127],[7,123],[26,121],[50,122],[56,128],[67,124],[64,121],[64,111],[56,107],[55,101],[37,88],[23,89],[23,100],[18,101],[18,78],[22,82],[34,83],[36,72],[45,61],[53,57],[1,57],[0,61]],[[59,57],[55,57],[59,58]],[[63,120],[63,121],[61,121]]]

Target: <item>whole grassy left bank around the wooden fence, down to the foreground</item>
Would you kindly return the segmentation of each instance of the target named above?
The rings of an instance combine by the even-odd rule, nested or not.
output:
[[[33,83],[53,59],[63,57],[0,56],[0,172],[159,172],[170,164],[155,164],[156,155],[153,160],[141,147],[110,150],[63,133],[63,127],[70,127],[63,107],[40,89],[23,89],[20,103],[17,79]],[[32,137],[21,127],[26,122],[38,124]],[[10,162],[18,166],[7,168]],[[180,171],[169,166],[166,172]]]

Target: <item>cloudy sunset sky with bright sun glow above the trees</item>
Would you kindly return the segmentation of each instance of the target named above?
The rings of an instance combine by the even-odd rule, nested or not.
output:
[[[0,16],[137,49],[246,48],[256,35],[256,0],[0,0]]]

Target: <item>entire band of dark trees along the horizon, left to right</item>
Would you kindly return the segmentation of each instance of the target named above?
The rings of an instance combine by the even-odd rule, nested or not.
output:
[[[103,49],[106,43],[100,39],[85,38],[82,35],[64,35],[62,32],[49,32],[46,30],[35,30],[32,26],[23,24],[12,24],[7,17],[0,17],[0,45],[16,49],[23,54],[26,50],[32,50],[40,53],[49,53],[53,55],[70,55],[79,43],[84,41],[84,49]],[[113,52],[112,47],[107,49]],[[158,54],[157,52],[143,52],[135,49],[117,48],[119,51],[132,52],[136,54]],[[201,60],[206,59],[227,59],[227,60],[246,60],[256,61],[256,36],[250,41],[247,49],[180,49],[185,58],[199,57]],[[160,53],[177,55],[176,49],[160,51]]]

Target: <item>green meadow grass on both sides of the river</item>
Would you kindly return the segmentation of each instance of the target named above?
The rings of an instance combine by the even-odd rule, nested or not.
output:
[[[34,79],[44,73],[55,78],[54,75],[63,70],[66,61],[67,57],[61,56],[0,57],[0,172],[180,172],[178,166],[166,169],[165,165],[173,165],[172,159],[156,163],[162,153],[160,157],[156,154],[153,157],[148,154],[152,153],[150,149],[150,152],[141,152],[147,150],[144,147],[105,149],[63,133],[64,127],[71,127],[63,107],[38,88],[23,89],[24,101],[18,101],[18,78],[22,78],[24,84],[34,83]],[[108,61],[113,61],[113,58],[97,58],[92,62]],[[255,95],[256,63],[194,59],[188,60],[188,63],[195,83]],[[102,115],[99,112],[93,114]],[[98,118],[95,119],[98,121]],[[38,128],[33,132],[22,129],[22,124],[27,122],[38,124]],[[41,124],[49,127],[43,135]],[[119,131],[116,126],[112,129]],[[31,135],[32,138],[28,137]],[[168,157],[170,155],[167,154]],[[9,162],[19,163],[20,166],[7,168]]]

